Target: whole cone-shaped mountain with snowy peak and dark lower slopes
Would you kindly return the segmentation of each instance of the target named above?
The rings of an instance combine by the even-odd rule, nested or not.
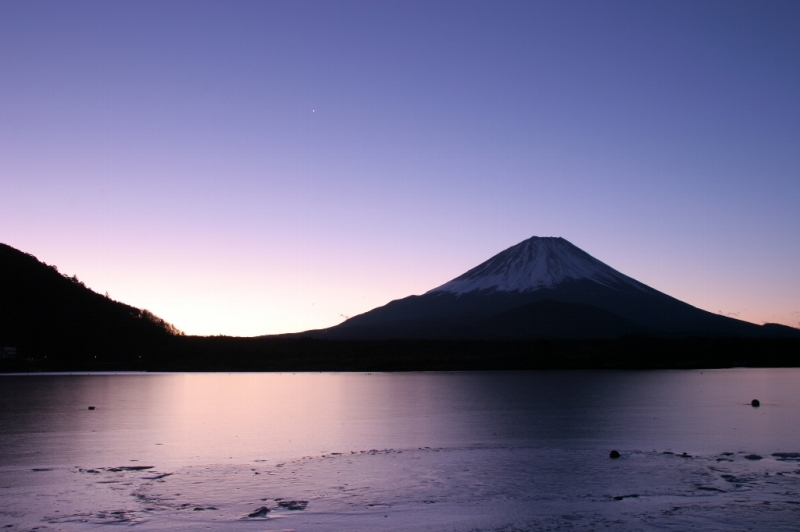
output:
[[[419,296],[314,336],[331,339],[795,336],[712,314],[632,279],[563,238],[532,237]]]

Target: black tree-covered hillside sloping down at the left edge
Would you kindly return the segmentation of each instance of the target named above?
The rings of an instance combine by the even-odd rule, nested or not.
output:
[[[0,244],[0,347],[58,367],[134,362],[179,332],[146,310],[113,301],[54,266]]]

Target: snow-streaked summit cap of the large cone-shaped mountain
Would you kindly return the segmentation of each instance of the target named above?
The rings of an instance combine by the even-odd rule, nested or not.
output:
[[[595,259],[561,237],[534,236],[511,246],[456,277],[434,292],[465,294],[475,290],[530,292],[553,288],[567,279],[591,280],[606,286],[645,285]]]

